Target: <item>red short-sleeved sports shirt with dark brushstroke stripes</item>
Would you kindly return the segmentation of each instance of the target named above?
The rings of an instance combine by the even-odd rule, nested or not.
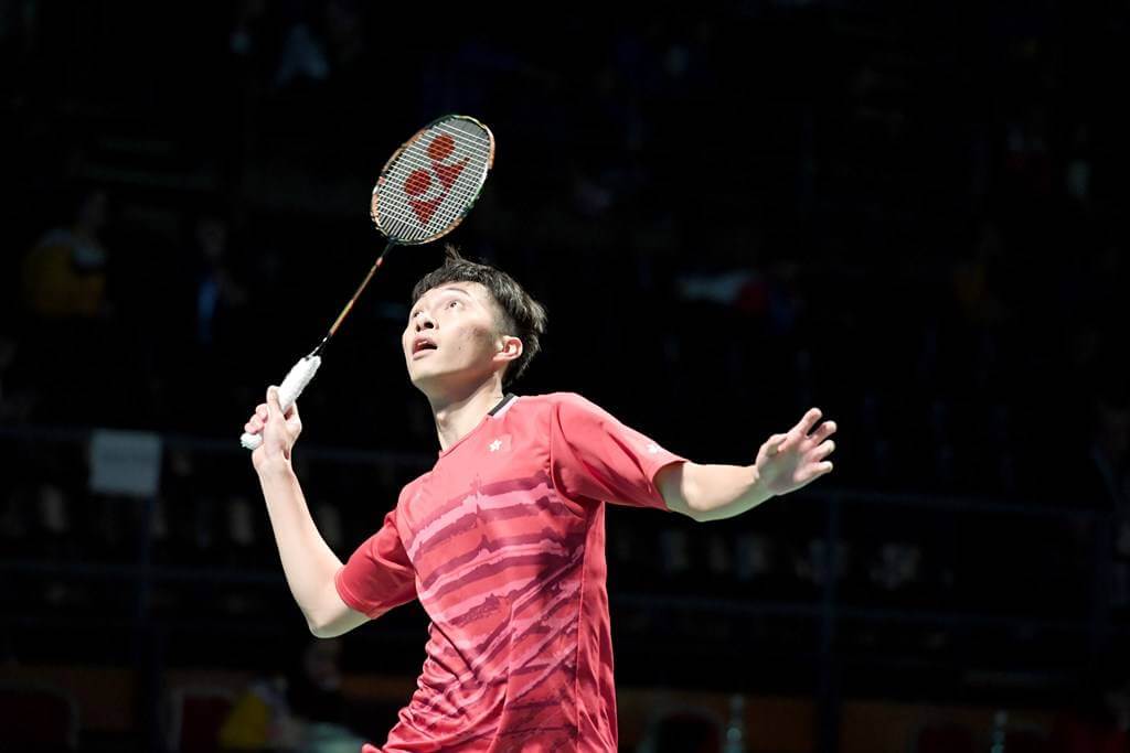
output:
[[[336,578],[370,618],[432,619],[384,753],[615,751],[605,502],[666,510],[680,461],[577,394],[507,395],[406,485]]]

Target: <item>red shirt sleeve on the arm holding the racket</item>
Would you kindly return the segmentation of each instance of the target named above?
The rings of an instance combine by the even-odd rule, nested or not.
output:
[[[371,620],[416,598],[416,571],[397,532],[395,510],[333,577],[341,601]]]

